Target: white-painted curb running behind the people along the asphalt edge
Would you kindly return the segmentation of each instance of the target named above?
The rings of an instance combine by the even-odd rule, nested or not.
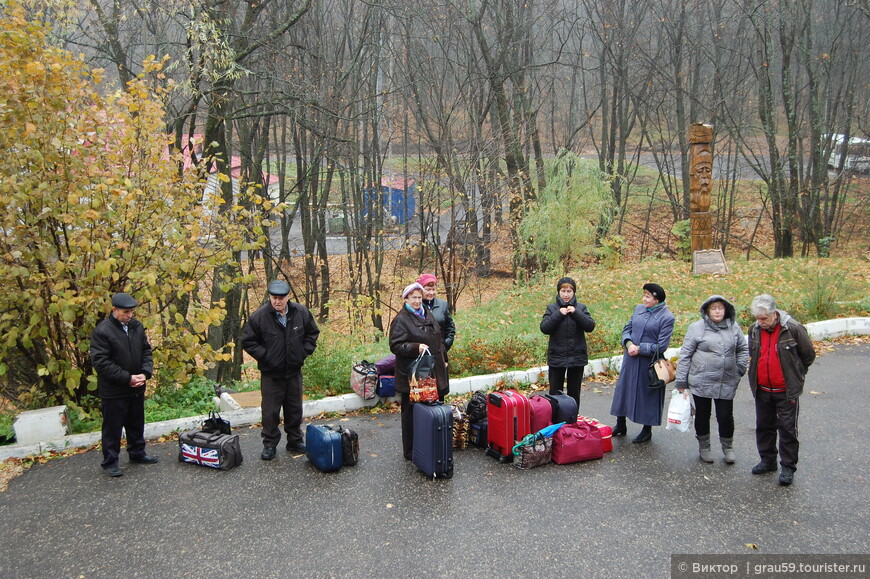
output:
[[[870,335],[870,317],[868,318],[839,318],[836,320],[825,320],[823,322],[813,322],[806,324],[807,332],[813,340],[826,340],[831,338],[839,338],[842,336],[867,336]],[[680,352],[679,348],[668,348],[665,356],[668,358],[677,356]],[[607,371],[618,372],[622,364],[622,356],[614,356],[612,358],[597,358],[590,360],[586,365],[584,377],[590,377],[594,374],[601,374]],[[536,384],[541,374],[546,374],[547,367],[539,366],[528,370],[518,370],[512,372],[501,372],[499,374],[485,374],[483,376],[469,376],[466,378],[454,378],[450,380],[451,394],[466,394],[475,390],[489,389],[499,382],[529,382]],[[227,395],[229,396],[229,395]],[[223,398],[223,396],[221,397]],[[230,397],[231,399],[231,397]],[[373,398],[371,400],[363,400],[356,394],[342,394],[340,396],[330,396],[321,400],[307,400],[302,405],[302,416],[310,418],[318,416],[323,412],[351,412],[360,408],[375,406],[382,400],[398,401],[399,398]],[[232,400],[225,403],[235,404]],[[238,404],[236,404],[238,406]],[[259,408],[242,408],[240,410],[230,410],[221,412],[221,416],[229,420],[233,426],[246,426],[256,424],[262,420],[262,415]],[[157,438],[166,436],[173,432],[190,430],[198,427],[208,416],[190,416],[188,418],[179,418],[177,420],[165,420],[162,422],[152,422],[145,425],[145,438]],[[17,457],[23,458],[34,454],[42,454],[51,450],[65,450],[68,448],[88,447],[100,441],[99,432],[88,432],[85,434],[72,434],[63,438],[47,440],[31,444],[10,444],[0,446],[0,461],[7,458]]]

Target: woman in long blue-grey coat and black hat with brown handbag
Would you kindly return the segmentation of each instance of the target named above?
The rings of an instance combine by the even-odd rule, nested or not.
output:
[[[644,284],[643,303],[634,308],[622,329],[625,354],[610,406],[610,413],[616,416],[613,436],[626,435],[628,418],[643,425],[632,442],[649,442],[652,427],[662,423],[665,390],[649,388],[648,371],[656,355],[664,355],[668,349],[673,332],[674,315],[665,303],[665,290],[655,283]]]

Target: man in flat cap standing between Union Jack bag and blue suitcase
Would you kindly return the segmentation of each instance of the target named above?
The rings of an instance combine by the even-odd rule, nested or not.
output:
[[[314,353],[320,329],[308,308],[290,301],[290,285],[284,280],[269,283],[269,303],[248,318],[242,330],[242,348],[260,369],[263,401],[263,452],[260,458],[275,458],[281,442],[280,412],[284,410],[287,450],[305,452],[302,441],[302,365]]]

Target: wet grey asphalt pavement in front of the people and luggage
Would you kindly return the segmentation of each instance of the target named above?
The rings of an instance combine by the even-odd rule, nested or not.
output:
[[[602,460],[520,471],[469,448],[433,481],[402,458],[399,415],[377,414],[324,421],[362,447],[324,474],[283,440],[260,460],[244,427],[227,472],[179,463],[177,442],[149,443],[155,465],[124,456],[120,478],[98,451],[33,466],[0,493],[0,577],[668,577],[675,553],[868,554],[868,358],[841,346],[810,369],[791,487],[749,472],[745,380],[730,466],[715,426],[708,465],[693,434],[632,444],[629,423]],[[581,414],[610,423],[611,396],[584,385]]]

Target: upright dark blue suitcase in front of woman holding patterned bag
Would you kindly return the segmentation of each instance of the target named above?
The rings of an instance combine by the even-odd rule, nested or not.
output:
[[[443,402],[414,404],[412,458],[427,476],[453,476],[453,411]]]

